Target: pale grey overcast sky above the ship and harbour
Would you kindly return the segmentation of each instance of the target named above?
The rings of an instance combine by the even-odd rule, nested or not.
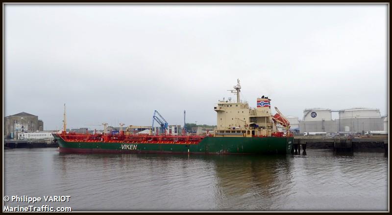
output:
[[[387,114],[387,5],[5,5],[4,114],[44,129],[216,125],[242,100]],[[116,125],[114,125],[116,124]]]

